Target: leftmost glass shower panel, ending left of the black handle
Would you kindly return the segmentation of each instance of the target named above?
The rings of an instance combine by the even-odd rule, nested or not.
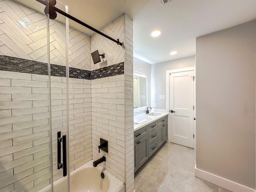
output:
[[[1,192],[34,192],[51,183],[44,7],[35,0],[0,1]]]

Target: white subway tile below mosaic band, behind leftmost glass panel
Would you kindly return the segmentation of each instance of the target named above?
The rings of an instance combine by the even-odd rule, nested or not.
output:
[[[50,182],[48,82],[18,72],[0,71],[0,77],[0,190],[34,191]],[[47,102],[33,106],[34,101]]]

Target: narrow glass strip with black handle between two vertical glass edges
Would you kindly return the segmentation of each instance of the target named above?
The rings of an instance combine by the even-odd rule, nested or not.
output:
[[[54,1],[49,1],[49,3]],[[56,8],[68,7],[56,1]],[[47,9],[47,8],[46,8]],[[49,5],[48,63],[50,63],[50,124],[53,190],[69,192],[68,20]],[[56,18],[56,19],[54,19]]]

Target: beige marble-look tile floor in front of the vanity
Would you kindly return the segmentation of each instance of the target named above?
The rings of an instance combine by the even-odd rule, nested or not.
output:
[[[194,176],[196,151],[166,142],[135,173],[136,192],[230,192]]]

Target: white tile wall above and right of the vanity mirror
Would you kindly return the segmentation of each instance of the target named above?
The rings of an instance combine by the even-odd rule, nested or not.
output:
[[[151,106],[151,65],[134,57],[133,72],[147,77],[147,106]]]

